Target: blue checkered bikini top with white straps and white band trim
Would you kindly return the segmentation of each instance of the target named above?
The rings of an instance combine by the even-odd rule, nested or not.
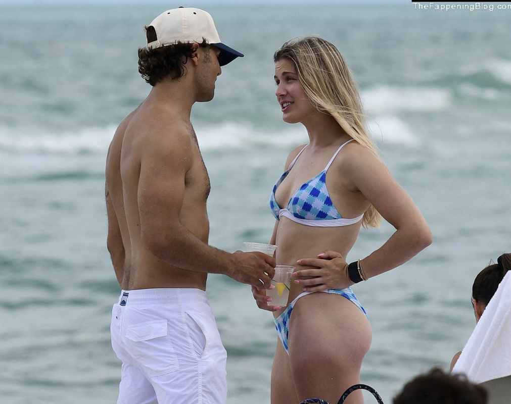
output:
[[[301,149],[294,160],[291,161],[291,164],[289,164],[288,169],[284,172],[284,174],[282,174],[281,178],[278,179],[277,183],[273,187],[273,192],[270,195],[270,208],[275,219],[280,220],[280,218],[284,216],[291,219],[293,222],[307,226],[337,227],[355,224],[364,217],[362,214],[353,219],[342,218],[330,199],[330,194],[327,189],[327,171],[335,157],[337,157],[337,154],[339,154],[341,149],[351,141],[353,141],[353,139],[343,143],[330,159],[327,167],[325,167],[324,170],[314,178],[301,185],[291,196],[287,207],[285,209],[281,209],[275,200],[275,191],[277,190],[278,185],[280,185],[284,178],[287,177],[293,168],[294,163],[307,146]]]

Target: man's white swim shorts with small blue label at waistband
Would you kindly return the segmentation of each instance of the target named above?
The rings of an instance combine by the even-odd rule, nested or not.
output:
[[[122,291],[110,331],[118,404],[225,404],[227,352],[204,291]]]

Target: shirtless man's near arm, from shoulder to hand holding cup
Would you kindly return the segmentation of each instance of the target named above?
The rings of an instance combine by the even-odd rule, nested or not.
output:
[[[192,140],[172,128],[155,133],[141,159],[138,212],[144,246],[167,263],[189,271],[221,273],[258,288],[270,287],[275,260],[263,253],[227,253],[198,239],[179,221],[185,176],[192,168]],[[156,141],[157,139],[157,141]],[[262,282],[260,281],[262,280]]]

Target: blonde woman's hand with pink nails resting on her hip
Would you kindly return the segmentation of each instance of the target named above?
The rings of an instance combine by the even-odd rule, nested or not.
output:
[[[344,257],[336,251],[325,251],[318,258],[303,258],[296,262],[299,266],[315,267],[295,271],[294,283],[304,287],[304,292],[319,292],[327,289],[344,289],[353,284]],[[302,279],[313,276],[311,279]]]

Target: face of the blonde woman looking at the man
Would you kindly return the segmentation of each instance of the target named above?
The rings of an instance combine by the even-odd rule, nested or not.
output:
[[[283,112],[282,119],[289,124],[304,123],[318,111],[298,80],[294,63],[290,59],[281,59],[275,63],[275,96]]]

